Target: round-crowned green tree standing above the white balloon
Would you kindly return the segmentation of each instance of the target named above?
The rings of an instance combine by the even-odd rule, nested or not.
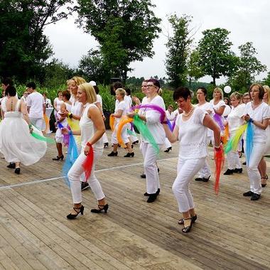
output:
[[[212,83],[215,85],[220,76],[230,76],[235,72],[237,57],[231,50],[232,42],[229,41],[229,31],[226,29],[208,29],[202,34],[198,44],[199,65],[204,75],[212,77]]]

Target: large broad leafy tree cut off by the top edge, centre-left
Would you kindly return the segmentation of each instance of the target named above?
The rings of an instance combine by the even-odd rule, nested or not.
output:
[[[95,36],[109,75],[122,77],[129,64],[153,56],[153,40],[161,19],[150,0],[78,0],[79,18],[85,32]]]

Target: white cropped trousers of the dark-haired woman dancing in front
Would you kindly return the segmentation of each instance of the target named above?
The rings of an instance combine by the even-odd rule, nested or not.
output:
[[[205,164],[206,158],[178,159],[177,176],[173,183],[173,194],[178,202],[179,212],[188,212],[194,208],[193,196],[190,193],[190,180]]]

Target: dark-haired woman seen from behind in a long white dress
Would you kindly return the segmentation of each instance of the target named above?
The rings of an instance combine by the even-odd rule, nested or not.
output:
[[[13,86],[6,88],[6,99],[2,106],[4,119],[0,124],[0,152],[9,163],[15,163],[15,173],[21,172],[20,164],[29,166],[45,155],[47,144],[31,136],[33,127],[30,124],[26,104],[16,97]],[[42,136],[41,131],[34,129]]]

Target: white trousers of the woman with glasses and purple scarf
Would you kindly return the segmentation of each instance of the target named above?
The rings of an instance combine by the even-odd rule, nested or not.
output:
[[[161,148],[161,144],[158,144]],[[161,188],[158,176],[158,167],[156,166],[156,158],[158,158],[158,153],[153,148],[151,144],[142,143],[141,152],[144,156],[144,172],[146,174],[146,192],[148,194],[153,194]]]

